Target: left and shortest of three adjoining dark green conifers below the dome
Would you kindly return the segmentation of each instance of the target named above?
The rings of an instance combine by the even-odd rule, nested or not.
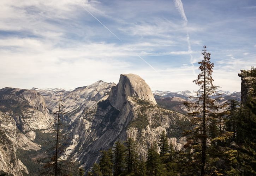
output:
[[[103,150],[103,151],[101,151],[101,153],[102,153],[102,156],[101,156],[100,164],[99,164],[100,168],[101,168],[101,174],[102,174],[102,176],[112,175],[112,166],[113,166],[112,150],[111,149]]]

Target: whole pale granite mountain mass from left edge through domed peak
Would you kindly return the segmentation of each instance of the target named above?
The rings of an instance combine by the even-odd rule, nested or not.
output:
[[[148,84],[138,75],[121,74],[118,84],[97,81],[73,90],[4,88],[0,90],[0,168],[8,174],[38,174],[37,158],[53,137],[51,121],[62,99],[67,145],[62,159],[89,169],[100,150],[132,137],[144,159],[162,130],[180,150],[181,133],[189,120],[157,105]],[[12,130],[11,130],[12,129]],[[32,158],[32,159],[31,159]]]

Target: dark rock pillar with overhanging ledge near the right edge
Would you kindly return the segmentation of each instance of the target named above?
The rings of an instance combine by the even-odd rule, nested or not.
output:
[[[253,77],[250,76],[250,70],[241,70],[238,76],[241,77],[241,102],[245,105],[249,94],[253,90],[251,87]]]

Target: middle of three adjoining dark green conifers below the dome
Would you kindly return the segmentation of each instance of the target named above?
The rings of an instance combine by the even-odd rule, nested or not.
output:
[[[124,145],[118,140],[115,142],[115,151],[114,151],[114,176],[121,175],[124,171],[125,162],[125,147]]]

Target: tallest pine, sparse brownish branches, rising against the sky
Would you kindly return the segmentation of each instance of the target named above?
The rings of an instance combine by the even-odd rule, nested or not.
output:
[[[217,102],[211,97],[216,94],[217,87],[213,85],[212,72],[214,64],[210,61],[210,53],[206,52],[206,46],[203,47],[203,60],[198,62],[200,64],[199,70],[201,73],[197,79],[194,80],[200,89],[197,92],[196,102],[186,102],[185,106],[192,111],[188,113],[191,119],[192,129],[186,131],[187,141],[194,151],[194,168],[197,170],[200,166],[201,176],[206,175],[207,162],[207,140],[209,139],[209,125],[216,127],[216,111],[218,111]]]

